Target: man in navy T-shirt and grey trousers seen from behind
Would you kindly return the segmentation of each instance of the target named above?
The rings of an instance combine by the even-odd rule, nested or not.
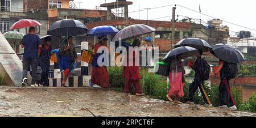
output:
[[[32,69],[31,87],[37,87],[37,70],[38,70],[38,49],[42,47],[41,41],[38,35],[36,35],[35,27],[30,27],[29,33],[22,39],[22,48],[24,48],[23,54],[23,74],[22,74],[22,86],[27,86],[27,72]]]

